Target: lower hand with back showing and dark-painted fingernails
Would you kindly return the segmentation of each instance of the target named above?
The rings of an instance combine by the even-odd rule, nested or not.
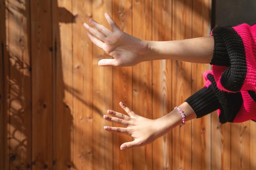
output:
[[[104,115],[104,119],[111,121],[115,124],[124,126],[122,127],[109,127],[104,126],[105,130],[125,134],[134,138],[134,141],[126,142],[121,145],[120,149],[133,148],[135,146],[144,146],[152,143],[155,139],[162,136],[161,130],[157,127],[157,119],[147,119],[136,115],[132,110],[126,107],[122,102],[119,103],[128,115],[124,115],[113,110],[108,110],[108,114],[112,117]]]

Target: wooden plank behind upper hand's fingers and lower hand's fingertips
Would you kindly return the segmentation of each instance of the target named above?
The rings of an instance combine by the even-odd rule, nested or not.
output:
[[[92,0],[92,16],[97,22],[110,29],[104,13],[112,13],[112,0]],[[113,79],[112,67],[98,66],[98,61],[108,57],[104,51],[93,46],[92,85],[93,85],[93,169],[113,168],[113,134],[103,129],[112,123],[103,119],[108,109],[113,108]]]

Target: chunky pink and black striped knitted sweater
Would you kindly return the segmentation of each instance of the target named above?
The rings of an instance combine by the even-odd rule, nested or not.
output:
[[[197,117],[218,110],[221,123],[256,120],[256,24],[212,31],[212,70],[204,88],[186,99]]]

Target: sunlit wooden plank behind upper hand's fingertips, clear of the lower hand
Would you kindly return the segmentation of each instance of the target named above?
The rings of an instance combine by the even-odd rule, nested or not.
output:
[[[92,1],[73,0],[73,155],[74,169],[93,169],[92,42],[83,22],[92,17]],[[98,76],[97,76],[98,77]],[[103,129],[103,127],[102,127]]]

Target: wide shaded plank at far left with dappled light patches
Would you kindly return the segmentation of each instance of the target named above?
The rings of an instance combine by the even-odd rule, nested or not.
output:
[[[10,101],[8,152],[10,169],[24,170],[31,166],[29,1],[9,0],[8,12],[10,61],[7,79]]]

